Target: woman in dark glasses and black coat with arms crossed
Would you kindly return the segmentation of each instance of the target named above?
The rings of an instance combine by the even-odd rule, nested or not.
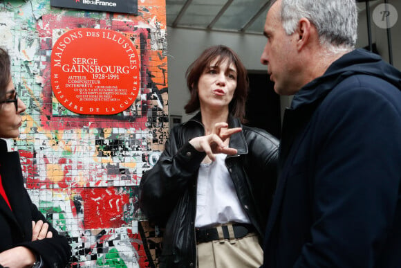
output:
[[[4,140],[19,136],[25,109],[11,79],[10,56],[0,48],[0,267],[65,267],[68,241],[30,200],[19,154],[8,152]]]

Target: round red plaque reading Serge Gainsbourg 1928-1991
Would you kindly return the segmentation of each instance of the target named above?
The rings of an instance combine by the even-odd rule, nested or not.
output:
[[[135,46],[121,33],[93,28],[69,30],[53,46],[53,93],[77,114],[118,114],[138,96],[139,62]]]

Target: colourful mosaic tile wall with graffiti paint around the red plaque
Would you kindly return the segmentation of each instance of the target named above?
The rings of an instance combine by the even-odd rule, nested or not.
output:
[[[169,131],[165,13],[164,0],[138,0],[138,16],[0,2],[0,46],[27,106],[13,143],[32,201],[71,243],[71,267],[158,267],[160,232],[140,213],[138,185]],[[126,111],[84,116],[57,103],[53,30],[74,28],[115,30],[135,44],[140,93]]]

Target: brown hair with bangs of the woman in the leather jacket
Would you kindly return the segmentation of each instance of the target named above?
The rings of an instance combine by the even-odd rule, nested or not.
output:
[[[230,114],[245,122],[245,102],[248,96],[249,81],[248,73],[243,66],[239,56],[229,47],[218,45],[206,48],[205,51],[189,65],[185,77],[187,78],[187,87],[191,94],[187,105],[184,109],[187,114],[200,109],[198,97],[198,82],[205,68],[209,66],[212,60],[218,59],[216,64],[220,64],[224,60],[228,60],[228,64],[234,64],[236,67],[236,89],[234,96],[229,104]]]

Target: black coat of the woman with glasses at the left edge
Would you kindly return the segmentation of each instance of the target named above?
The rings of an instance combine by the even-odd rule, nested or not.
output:
[[[4,141],[0,141],[4,143]],[[32,203],[21,172],[18,152],[0,152],[0,172],[3,188],[6,191],[10,207],[0,195],[0,252],[13,247],[24,246],[39,253],[46,267],[65,267],[71,256],[68,241],[49,224],[53,238],[32,240],[32,220],[46,222],[44,215]]]

